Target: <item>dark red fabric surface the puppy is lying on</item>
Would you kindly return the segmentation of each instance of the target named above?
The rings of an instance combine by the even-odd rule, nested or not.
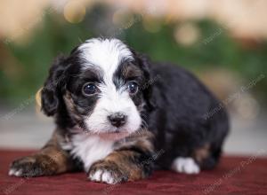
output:
[[[217,168],[199,175],[156,171],[150,178],[109,185],[86,180],[85,173],[36,178],[8,176],[9,163],[29,152],[0,151],[0,194],[267,194],[267,159],[223,157]]]

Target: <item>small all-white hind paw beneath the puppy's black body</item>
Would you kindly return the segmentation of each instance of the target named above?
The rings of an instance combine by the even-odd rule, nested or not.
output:
[[[179,173],[185,174],[198,174],[200,168],[198,164],[192,158],[178,157],[174,160],[172,169]]]

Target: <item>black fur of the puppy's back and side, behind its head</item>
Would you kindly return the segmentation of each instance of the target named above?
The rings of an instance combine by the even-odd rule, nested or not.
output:
[[[222,109],[206,118],[220,102],[181,67],[150,63],[150,76],[158,74],[160,79],[153,83],[151,95],[157,109],[149,113],[156,150],[166,151],[158,158],[158,167],[170,168],[177,156],[191,156],[197,148],[210,144],[210,156],[201,167],[213,168],[229,130],[227,113]]]

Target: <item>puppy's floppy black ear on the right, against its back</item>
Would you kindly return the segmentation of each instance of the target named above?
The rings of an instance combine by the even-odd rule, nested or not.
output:
[[[145,77],[145,84],[142,86],[143,97],[148,105],[149,111],[152,111],[156,107],[156,104],[151,99],[154,78],[151,78],[150,74],[150,59],[141,54],[135,53],[135,55]]]

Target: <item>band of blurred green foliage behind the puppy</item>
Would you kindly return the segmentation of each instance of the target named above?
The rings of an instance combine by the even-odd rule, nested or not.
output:
[[[135,15],[135,19],[141,16]],[[36,27],[28,44],[20,46],[12,41],[6,49],[12,53],[21,66],[19,73],[8,77],[0,72],[1,98],[8,102],[21,101],[36,93],[44,83],[49,66],[58,54],[66,55],[77,46],[93,36],[105,35],[97,24],[105,26],[103,21],[112,23],[106,8],[96,7],[86,14],[85,20],[70,24],[63,16],[56,13],[44,15],[44,23]],[[161,20],[160,30],[149,33],[142,27],[142,20],[134,20],[131,27],[119,30],[113,27],[115,35],[131,45],[135,51],[146,53],[153,60],[170,61],[191,70],[206,70],[218,66],[247,79],[254,80],[259,74],[267,73],[267,43],[261,43],[255,49],[244,49],[233,40],[226,29],[220,28],[210,20],[194,21],[200,30],[198,43],[182,46],[174,40],[174,27],[179,23],[166,24]],[[223,29],[210,43],[203,41]],[[109,29],[108,29],[109,31]],[[9,65],[4,65],[9,66]],[[267,99],[267,79],[258,83],[254,90],[259,97]]]

